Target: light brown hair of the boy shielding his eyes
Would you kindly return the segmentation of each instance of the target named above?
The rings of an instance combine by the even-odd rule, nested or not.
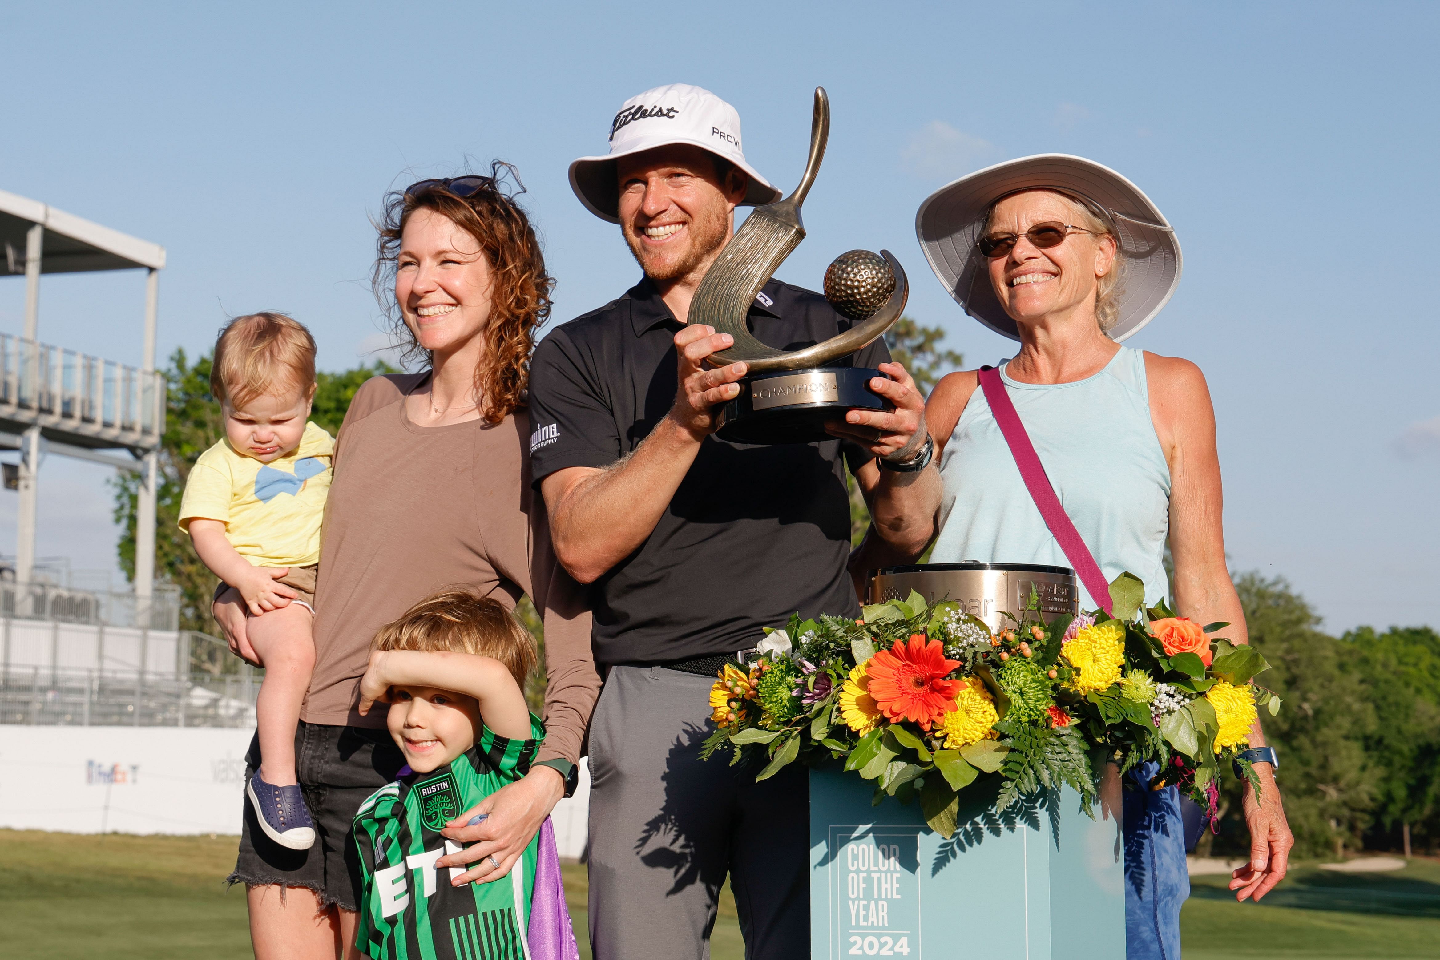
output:
[[[399,620],[382,626],[370,646],[490,656],[505,665],[520,689],[539,659],[536,639],[510,610],[464,587],[425,597]]]

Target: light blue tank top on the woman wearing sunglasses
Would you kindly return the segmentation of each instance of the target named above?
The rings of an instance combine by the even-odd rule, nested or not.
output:
[[[1104,368],[1076,383],[1001,377],[1060,504],[1106,580],[1129,570],[1145,603],[1169,593],[1169,466],[1151,420],[1145,354],[1120,347]],[[1071,567],[1030,498],[985,391],[971,394],[940,458],[945,495],[932,563],[1043,563]],[[1084,586],[1080,606],[1094,609]]]

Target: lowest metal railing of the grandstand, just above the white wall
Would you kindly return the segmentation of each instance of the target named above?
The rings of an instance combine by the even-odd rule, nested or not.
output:
[[[192,661],[220,640],[186,632]],[[199,649],[197,649],[199,648]],[[0,724],[75,727],[253,727],[264,671],[235,672],[12,666],[0,669]]]

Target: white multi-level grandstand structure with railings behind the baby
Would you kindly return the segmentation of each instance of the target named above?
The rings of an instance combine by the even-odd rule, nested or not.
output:
[[[176,587],[157,586],[156,494],[166,380],[156,321],[166,250],[0,191],[0,276],[24,278],[24,330],[0,334],[0,449],[19,450],[14,569],[0,569],[0,723],[245,725],[258,675],[223,643],[180,630]],[[138,367],[43,343],[40,278],[145,271]],[[78,590],[37,573],[40,459],[69,456],[140,476],[131,593]]]

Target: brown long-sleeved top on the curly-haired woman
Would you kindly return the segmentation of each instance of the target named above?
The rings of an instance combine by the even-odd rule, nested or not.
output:
[[[583,593],[556,561],[544,501],[531,494],[526,419],[416,426],[405,396],[428,376],[369,380],[340,427],[301,720],[384,727],[384,704],[356,712],[360,676],[376,632],[418,600],[464,584],[514,607],[528,593],[546,636],[540,759],[577,763],[600,681]]]

